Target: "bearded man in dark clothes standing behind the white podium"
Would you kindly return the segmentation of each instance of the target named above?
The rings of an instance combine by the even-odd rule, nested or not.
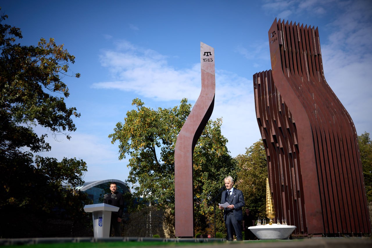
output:
[[[104,195],[103,203],[119,207],[118,212],[112,212],[111,213],[111,225],[110,225],[110,235],[112,232],[112,228],[115,230],[115,236],[121,236],[121,219],[123,216],[123,210],[124,210],[124,197],[123,194],[117,191],[118,185],[116,182],[112,182],[110,184],[110,194]]]

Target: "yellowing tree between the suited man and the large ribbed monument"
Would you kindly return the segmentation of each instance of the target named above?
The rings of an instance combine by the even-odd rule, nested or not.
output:
[[[267,160],[262,140],[247,148],[244,155],[238,155],[240,172],[238,184],[243,191],[246,206],[255,216],[266,216]]]

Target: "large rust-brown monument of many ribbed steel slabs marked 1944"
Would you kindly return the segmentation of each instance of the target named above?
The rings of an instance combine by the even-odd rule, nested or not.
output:
[[[273,22],[272,70],[253,75],[276,217],[314,234],[370,233],[353,121],[327,84],[318,28]]]

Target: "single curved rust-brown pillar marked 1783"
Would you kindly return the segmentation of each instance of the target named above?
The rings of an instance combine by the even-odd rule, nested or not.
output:
[[[214,107],[216,91],[214,48],[201,42],[202,90],[177,137],[174,149],[174,199],[176,237],[194,236],[192,154]]]

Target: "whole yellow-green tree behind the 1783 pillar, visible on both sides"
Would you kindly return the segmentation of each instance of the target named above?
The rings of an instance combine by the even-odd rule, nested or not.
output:
[[[113,144],[119,142],[119,159],[130,156],[128,182],[134,187],[134,195],[174,211],[174,147],[191,105],[182,99],[174,108],[154,110],[138,98],[132,105],[137,109],[127,112],[124,124],[117,123],[109,138]],[[193,155],[195,220],[203,230],[210,222],[209,200],[222,187],[227,169],[236,168],[228,155],[221,124],[221,119],[208,122]]]

